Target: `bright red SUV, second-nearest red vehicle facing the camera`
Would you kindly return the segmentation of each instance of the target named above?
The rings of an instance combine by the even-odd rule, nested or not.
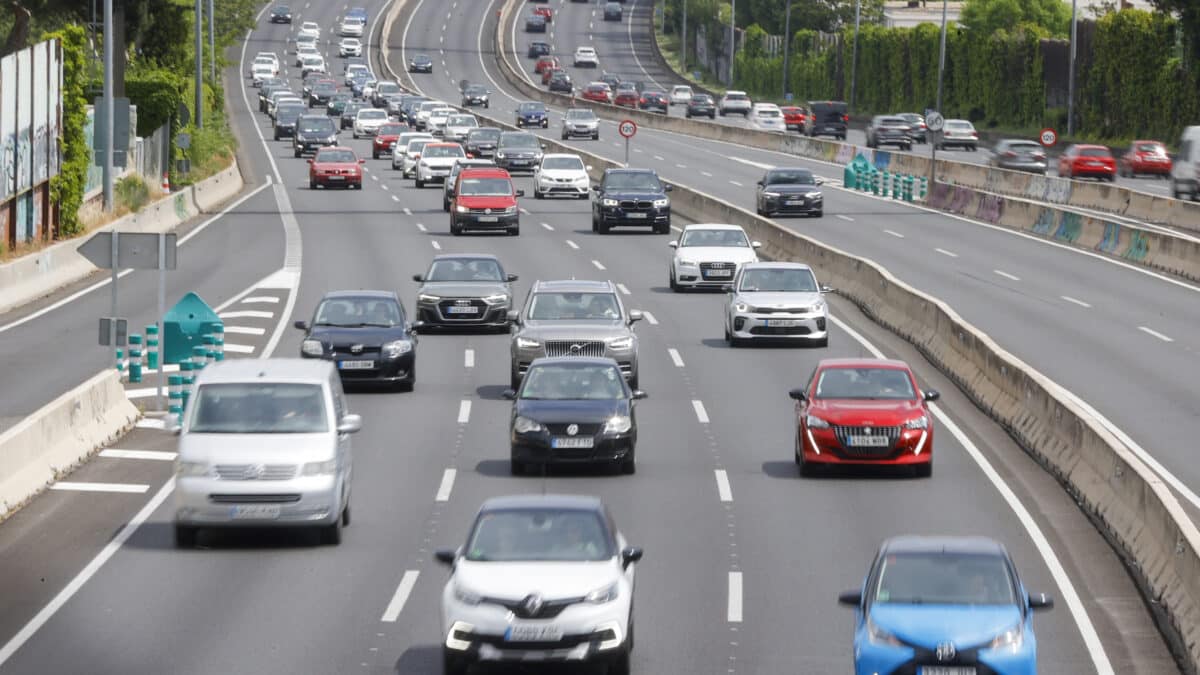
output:
[[[462,169],[450,197],[450,234],[457,237],[468,229],[520,234],[517,197],[524,197],[524,190],[512,186],[509,172],[493,167]]]

